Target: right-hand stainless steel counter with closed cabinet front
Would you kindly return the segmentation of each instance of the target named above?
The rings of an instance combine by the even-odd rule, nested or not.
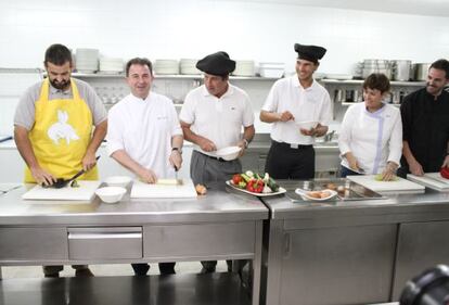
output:
[[[295,189],[294,181],[280,181]],[[407,280],[449,264],[449,193],[364,201],[264,198],[267,305],[397,301]]]

